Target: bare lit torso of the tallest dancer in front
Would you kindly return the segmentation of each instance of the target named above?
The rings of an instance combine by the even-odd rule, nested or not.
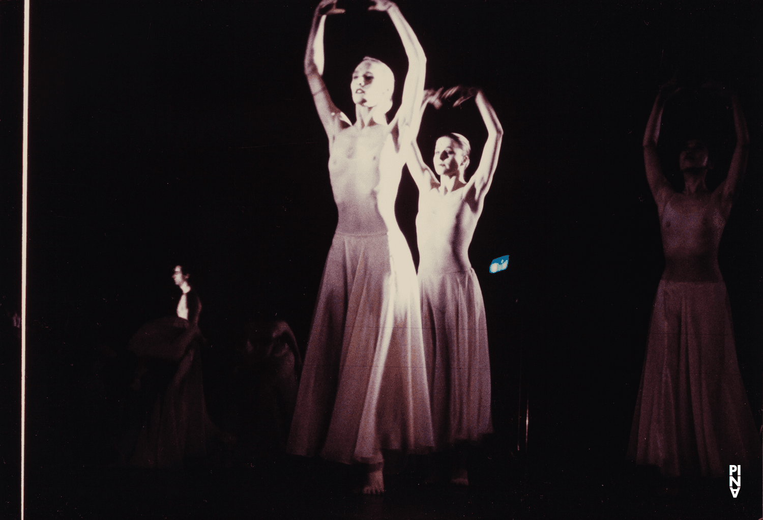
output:
[[[336,134],[329,159],[331,189],[339,210],[336,231],[399,231],[394,200],[403,161],[393,137],[393,128],[387,124],[362,129],[353,125]]]

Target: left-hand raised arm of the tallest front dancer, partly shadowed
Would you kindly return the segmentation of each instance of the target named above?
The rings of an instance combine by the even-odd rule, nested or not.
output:
[[[336,8],[336,0],[321,0],[313,15],[310,36],[307,37],[307,50],[304,53],[304,75],[313,94],[320,122],[324,124],[329,140],[336,134],[336,118],[340,109],[331,101],[326,84],[324,83],[324,26],[327,15],[343,13],[344,9]],[[349,121],[348,121],[349,124]]]

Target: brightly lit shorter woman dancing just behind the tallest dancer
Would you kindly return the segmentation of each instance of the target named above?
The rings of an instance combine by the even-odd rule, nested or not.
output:
[[[450,89],[443,97],[459,90]],[[485,304],[468,247],[493,180],[504,132],[481,90],[465,91],[454,106],[474,93],[488,140],[468,182],[464,175],[470,147],[462,134],[446,134],[436,142],[433,162],[439,181],[424,163],[415,136],[410,140],[408,170],[419,188],[418,279],[436,451],[479,441],[492,431]],[[427,101],[437,106],[439,92]],[[463,451],[459,451],[451,482],[468,485]]]

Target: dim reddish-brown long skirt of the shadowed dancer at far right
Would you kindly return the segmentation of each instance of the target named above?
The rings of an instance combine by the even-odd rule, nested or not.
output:
[[[628,457],[666,476],[723,476],[759,457],[726,285],[657,289]]]

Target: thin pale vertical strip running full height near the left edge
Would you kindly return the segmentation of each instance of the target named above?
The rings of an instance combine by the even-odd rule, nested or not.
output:
[[[21,520],[24,520],[24,434],[27,378],[27,128],[29,126],[29,0],[24,0],[24,115],[21,123]]]

